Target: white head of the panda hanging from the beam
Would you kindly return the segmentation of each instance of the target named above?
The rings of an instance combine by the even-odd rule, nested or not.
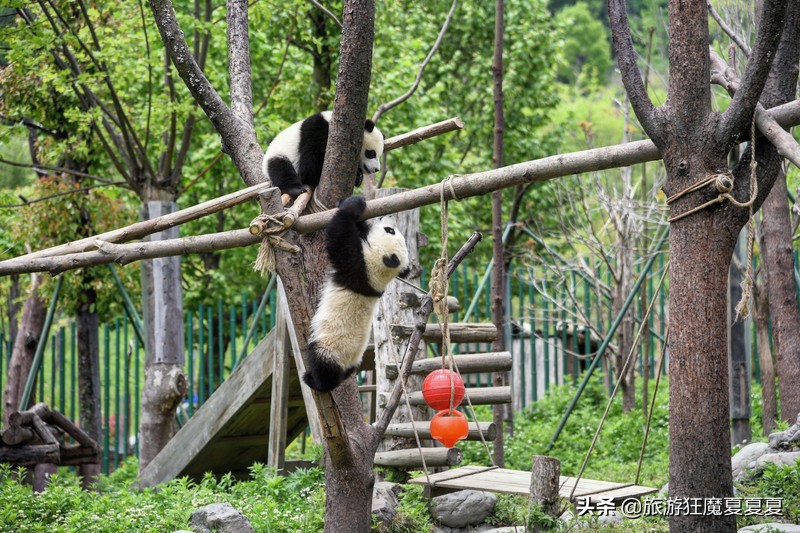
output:
[[[408,248],[394,218],[381,217],[370,223],[364,246],[369,284],[383,291],[400,272],[408,268]]]

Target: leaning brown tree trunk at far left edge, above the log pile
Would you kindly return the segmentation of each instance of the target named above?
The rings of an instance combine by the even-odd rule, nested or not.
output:
[[[44,318],[47,314],[44,300],[39,295],[40,283],[41,277],[34,276],[33,287],[22,307],[19,332],[14,341],[11,361],[8,363],[8,381],[3,399],[3,425],[6,427],[8,427],[9,415],[26,407],[20,406],[19,402],[22,392],[25,390],[25,381],[31,371],[33,356],[36,353],[36,346],[39,344]]]

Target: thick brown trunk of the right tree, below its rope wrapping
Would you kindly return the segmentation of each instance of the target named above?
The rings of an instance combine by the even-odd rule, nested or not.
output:
[[[700,212],[670,230],[670,498],[733,496],[725,340],[733,236]],[[698,472],[713,475],[698,477]],[[735,531],[735,516],[671,517],[671,531]]]

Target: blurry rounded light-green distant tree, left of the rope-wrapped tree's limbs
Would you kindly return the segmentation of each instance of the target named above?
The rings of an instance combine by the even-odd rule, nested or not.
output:
[[[604,82],[612,67],[609,31],[592,15],[589,4],[565,7],[556,15],[556,23],[564,28],[559,81],[581,87]],[[568,31],[575,28],[580,30]]]

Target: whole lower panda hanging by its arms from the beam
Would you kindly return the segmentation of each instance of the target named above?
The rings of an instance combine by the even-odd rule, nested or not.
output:
[[[375,305],[386,286],[408,275],[408,249],[394,219],[359,221],[363,196],[339,204],[326,230],[333,271],[322,288],[308,343],[303,381],[312,389],[335,389],[361,366]]]

